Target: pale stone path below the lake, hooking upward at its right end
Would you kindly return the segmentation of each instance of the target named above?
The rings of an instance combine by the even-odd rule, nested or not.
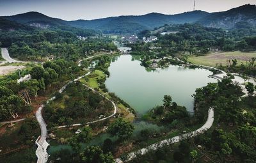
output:
[[[211,128],[213,122],[214,122],[214,109],[212,107],[210,107],[209,111],[208,111],[207,121],[204,123],[204,125],[202,127],[198,128],[197,130],[195,130],[193,132],[189,132],[187,134],[182,134],[180,136],[175,136],[170,139],[165,139],[163,141],[160,141],[159,143],[154,143],[154,144],[147,146],[146,148],[142,148],[138,151],[133,151],[127,155],[127,159],[124,161],[120,158],[116,159],[115,161],[116,161],[116,163],[128,162],[128,161],[131,161],[132,159],[135,159],[137,157],[137,155],[145,155],[145,153],[147,153],[148,151],[154,151],[159,148],[162,148],[163,146],[170,145],[173,143],[178,143],[184,139],[189,139],[191,137],[198,136],[199,134],[203,134],[205,131],[207,131],[209,128]]]

